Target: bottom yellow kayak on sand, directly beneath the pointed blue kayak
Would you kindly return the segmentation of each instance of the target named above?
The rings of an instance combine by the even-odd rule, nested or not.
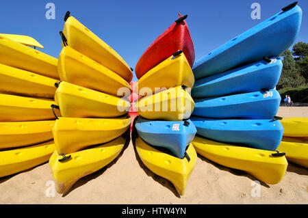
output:
[[[166,178],[175,186],[179,195],[184,195],[188,178],[196,165],[196,150],[190,144],[186,150],[188,158],[179,159],[161,152],[144,142],[141,137],[136,139],[136,150],[146,167],[154,174]]]

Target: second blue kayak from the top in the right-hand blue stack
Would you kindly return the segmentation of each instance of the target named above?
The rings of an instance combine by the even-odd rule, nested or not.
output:
[[[279,57],[263,60],[220,74],[198,79],[192,88],[192,98],[209,98],[272,90],[278,83],[283,63]]]

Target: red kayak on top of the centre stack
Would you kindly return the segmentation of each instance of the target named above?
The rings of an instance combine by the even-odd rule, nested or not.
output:
[[[190,67],[194,64],[194,44],[185,22],[187,15],[179,14],[179,16],[180,18],[166,29],[140,57],[135,69],[138,79],[179,50],[185,54]]]

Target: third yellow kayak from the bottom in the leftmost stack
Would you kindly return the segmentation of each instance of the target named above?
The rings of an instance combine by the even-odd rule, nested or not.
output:
[[[0,122],[55,120],[53,100],[0,94]],[[61,116],[59,111],[55,111]]]

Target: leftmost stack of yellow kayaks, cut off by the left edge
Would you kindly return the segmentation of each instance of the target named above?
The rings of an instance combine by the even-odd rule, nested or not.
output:
[[[29,36],[0,34],[0,177],[40,165],[55,150],[57,59],[29,46],[44,48]]]

